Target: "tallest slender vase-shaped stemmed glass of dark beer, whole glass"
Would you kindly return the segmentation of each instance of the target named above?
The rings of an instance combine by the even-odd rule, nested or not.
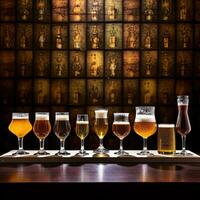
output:
[[[190,155],[186,151],[186,136],[191,131],[190,120],[188,116],[189,96],[177,96],[178,117],[176,121],[176,131],[182,137],[181,155]]]

